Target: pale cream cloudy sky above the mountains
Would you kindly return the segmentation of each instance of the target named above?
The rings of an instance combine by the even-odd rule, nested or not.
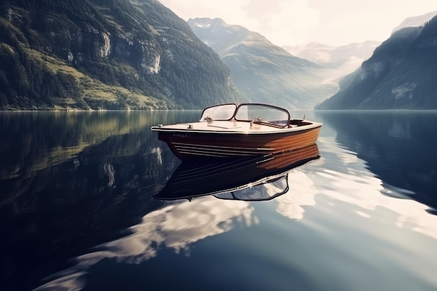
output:
[[[436,0],[158,0],[184,20],[221,18],[274,45],[384,41],[408,17],[437,11]]]

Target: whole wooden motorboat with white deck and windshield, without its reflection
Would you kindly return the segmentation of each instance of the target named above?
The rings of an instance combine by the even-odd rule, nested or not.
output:
[[[221,104],[200,121],[152,126],[182,161],[283,153],[313,144],[322,124],[291,119],[288,110],[259,103]]]

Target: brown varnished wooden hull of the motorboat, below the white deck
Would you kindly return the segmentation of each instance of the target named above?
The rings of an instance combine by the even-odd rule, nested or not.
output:
[[[158,132],[158,139],[166,142],[173,154],[182,161],[238,158],[280,154],[309,146],[317,141],[320,127],[264,134],[163,130]]]

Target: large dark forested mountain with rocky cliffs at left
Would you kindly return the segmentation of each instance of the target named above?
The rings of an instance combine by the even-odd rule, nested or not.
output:
[[[201,108],[246,98],[156,0],[3,0],[0,109]]]

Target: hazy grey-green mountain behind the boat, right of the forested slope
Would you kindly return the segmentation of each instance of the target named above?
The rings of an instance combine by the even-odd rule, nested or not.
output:
[[[259,33],[218,18],[190,19],[188,25],[230,68],[235,86],[252,102],[307,109],[337,91],[323,83],[323,66],[292,56]]]

